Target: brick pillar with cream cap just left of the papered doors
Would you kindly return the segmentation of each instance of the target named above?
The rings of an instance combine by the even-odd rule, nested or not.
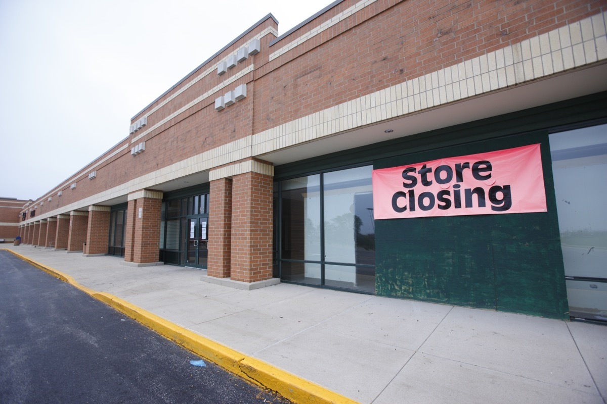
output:
[[[124,260],[154,264],[160,257],[161,191],[142,190],[129,194]]]

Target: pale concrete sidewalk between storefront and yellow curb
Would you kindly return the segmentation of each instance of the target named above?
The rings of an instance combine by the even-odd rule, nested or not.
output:
[[[607,326],[0,248],[357,402],[607,402]]]

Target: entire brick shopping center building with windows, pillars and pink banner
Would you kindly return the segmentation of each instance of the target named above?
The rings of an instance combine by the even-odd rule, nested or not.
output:
[[[605,320],[606,21],[605,1],[338,0],[278,36],[267,15],[27,204],[19,235]]]

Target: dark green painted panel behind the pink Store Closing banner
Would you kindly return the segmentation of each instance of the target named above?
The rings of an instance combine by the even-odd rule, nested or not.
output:
[[[376,220],[376,293],[568,318],[546,133],[391,157],[375,168],[534,143],[542,144],[547,213]]]

